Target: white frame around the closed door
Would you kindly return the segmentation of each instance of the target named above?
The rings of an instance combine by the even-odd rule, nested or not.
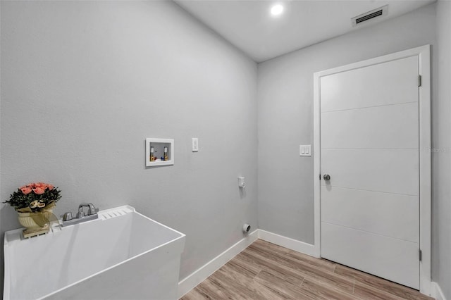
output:
[[[412,56],[419,57],[419,245],[420,292],[431,293],[431,45],[314,73],[314,253],[321,257],[321,77]]]

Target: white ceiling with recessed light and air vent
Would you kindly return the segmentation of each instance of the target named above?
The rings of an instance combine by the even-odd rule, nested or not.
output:
[[[301,49],[431,4],[435,0],[174,0],[254,61]],[[273,17],[273,4],[285,7]],[[351,18],[388,4],[386,16],[352,27]]]

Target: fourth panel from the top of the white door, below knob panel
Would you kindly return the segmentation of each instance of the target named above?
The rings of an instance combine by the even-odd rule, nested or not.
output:
[[[419,242],[418,196],[321,187],[323,222]],[[327,190],[329,189],[329,190]],[[346,207],[346,210],[342,210]],[[340,211],[340,213],[337,213]],[[405,224],[409,226],[405,226]]]

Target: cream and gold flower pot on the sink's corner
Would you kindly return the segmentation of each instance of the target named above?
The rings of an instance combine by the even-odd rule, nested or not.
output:
[[[19,223],[25,227],[23,237],[33,237],[49,232],[49,220],[51,220],[52,216],[53,213],[51,210],[35,213],[18,212]]]

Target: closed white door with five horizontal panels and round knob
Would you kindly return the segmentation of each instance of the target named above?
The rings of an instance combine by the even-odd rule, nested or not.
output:
[[[320,82],[321,256],[415,289],[418,75],[412,56]]]

